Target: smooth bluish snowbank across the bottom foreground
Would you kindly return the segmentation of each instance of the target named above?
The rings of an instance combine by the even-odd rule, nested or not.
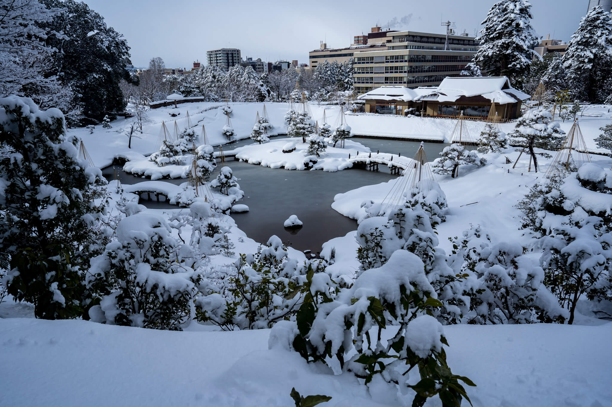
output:
[[[411,397],[370,397],[351,376],[330,375],[296,352],[268,350],[269,330],[191,330],[0,319],[0,405],[288,407],[292,387],[331,396],[322,406],[410,405]],[[476,407],[610,406],[612,324],[444,330],[453,373],[477,384],[468,388]]]

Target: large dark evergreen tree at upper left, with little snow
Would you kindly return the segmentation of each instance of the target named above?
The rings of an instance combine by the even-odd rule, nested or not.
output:
[[[53,54],[53,70],[62,85],[75,91],[75,104],[83,106],[83,116],[99,122],[107,114],[121,112],[125,101],[119,81],[132,81],[125,69],[132,66],[130,47],[123,35],[106,26],[104,18],[75,0],[43,0],[47,7],[62,9],[53,21],[41,24],[62,32],[70,41],[50,36],[47,44],[58,49]]]

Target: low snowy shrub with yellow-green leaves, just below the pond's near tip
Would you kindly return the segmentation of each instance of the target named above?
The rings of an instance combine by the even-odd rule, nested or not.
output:
[[[313,273],[312,265],[289,259],[285,245],[272,236],[256,254],[242,254],[233,268],[204,281],[206,295],[196,301],[197,318],[223,330],[270,328],[294,319],[308,292],[307,275]]]

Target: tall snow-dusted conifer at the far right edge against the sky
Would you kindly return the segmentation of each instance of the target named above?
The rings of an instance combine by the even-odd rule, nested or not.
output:
[[[612,17],[602,6],[580,20],[563,56],[569,89],[575,98],[603,101],[609,93],[602,85],[612,77]]]

